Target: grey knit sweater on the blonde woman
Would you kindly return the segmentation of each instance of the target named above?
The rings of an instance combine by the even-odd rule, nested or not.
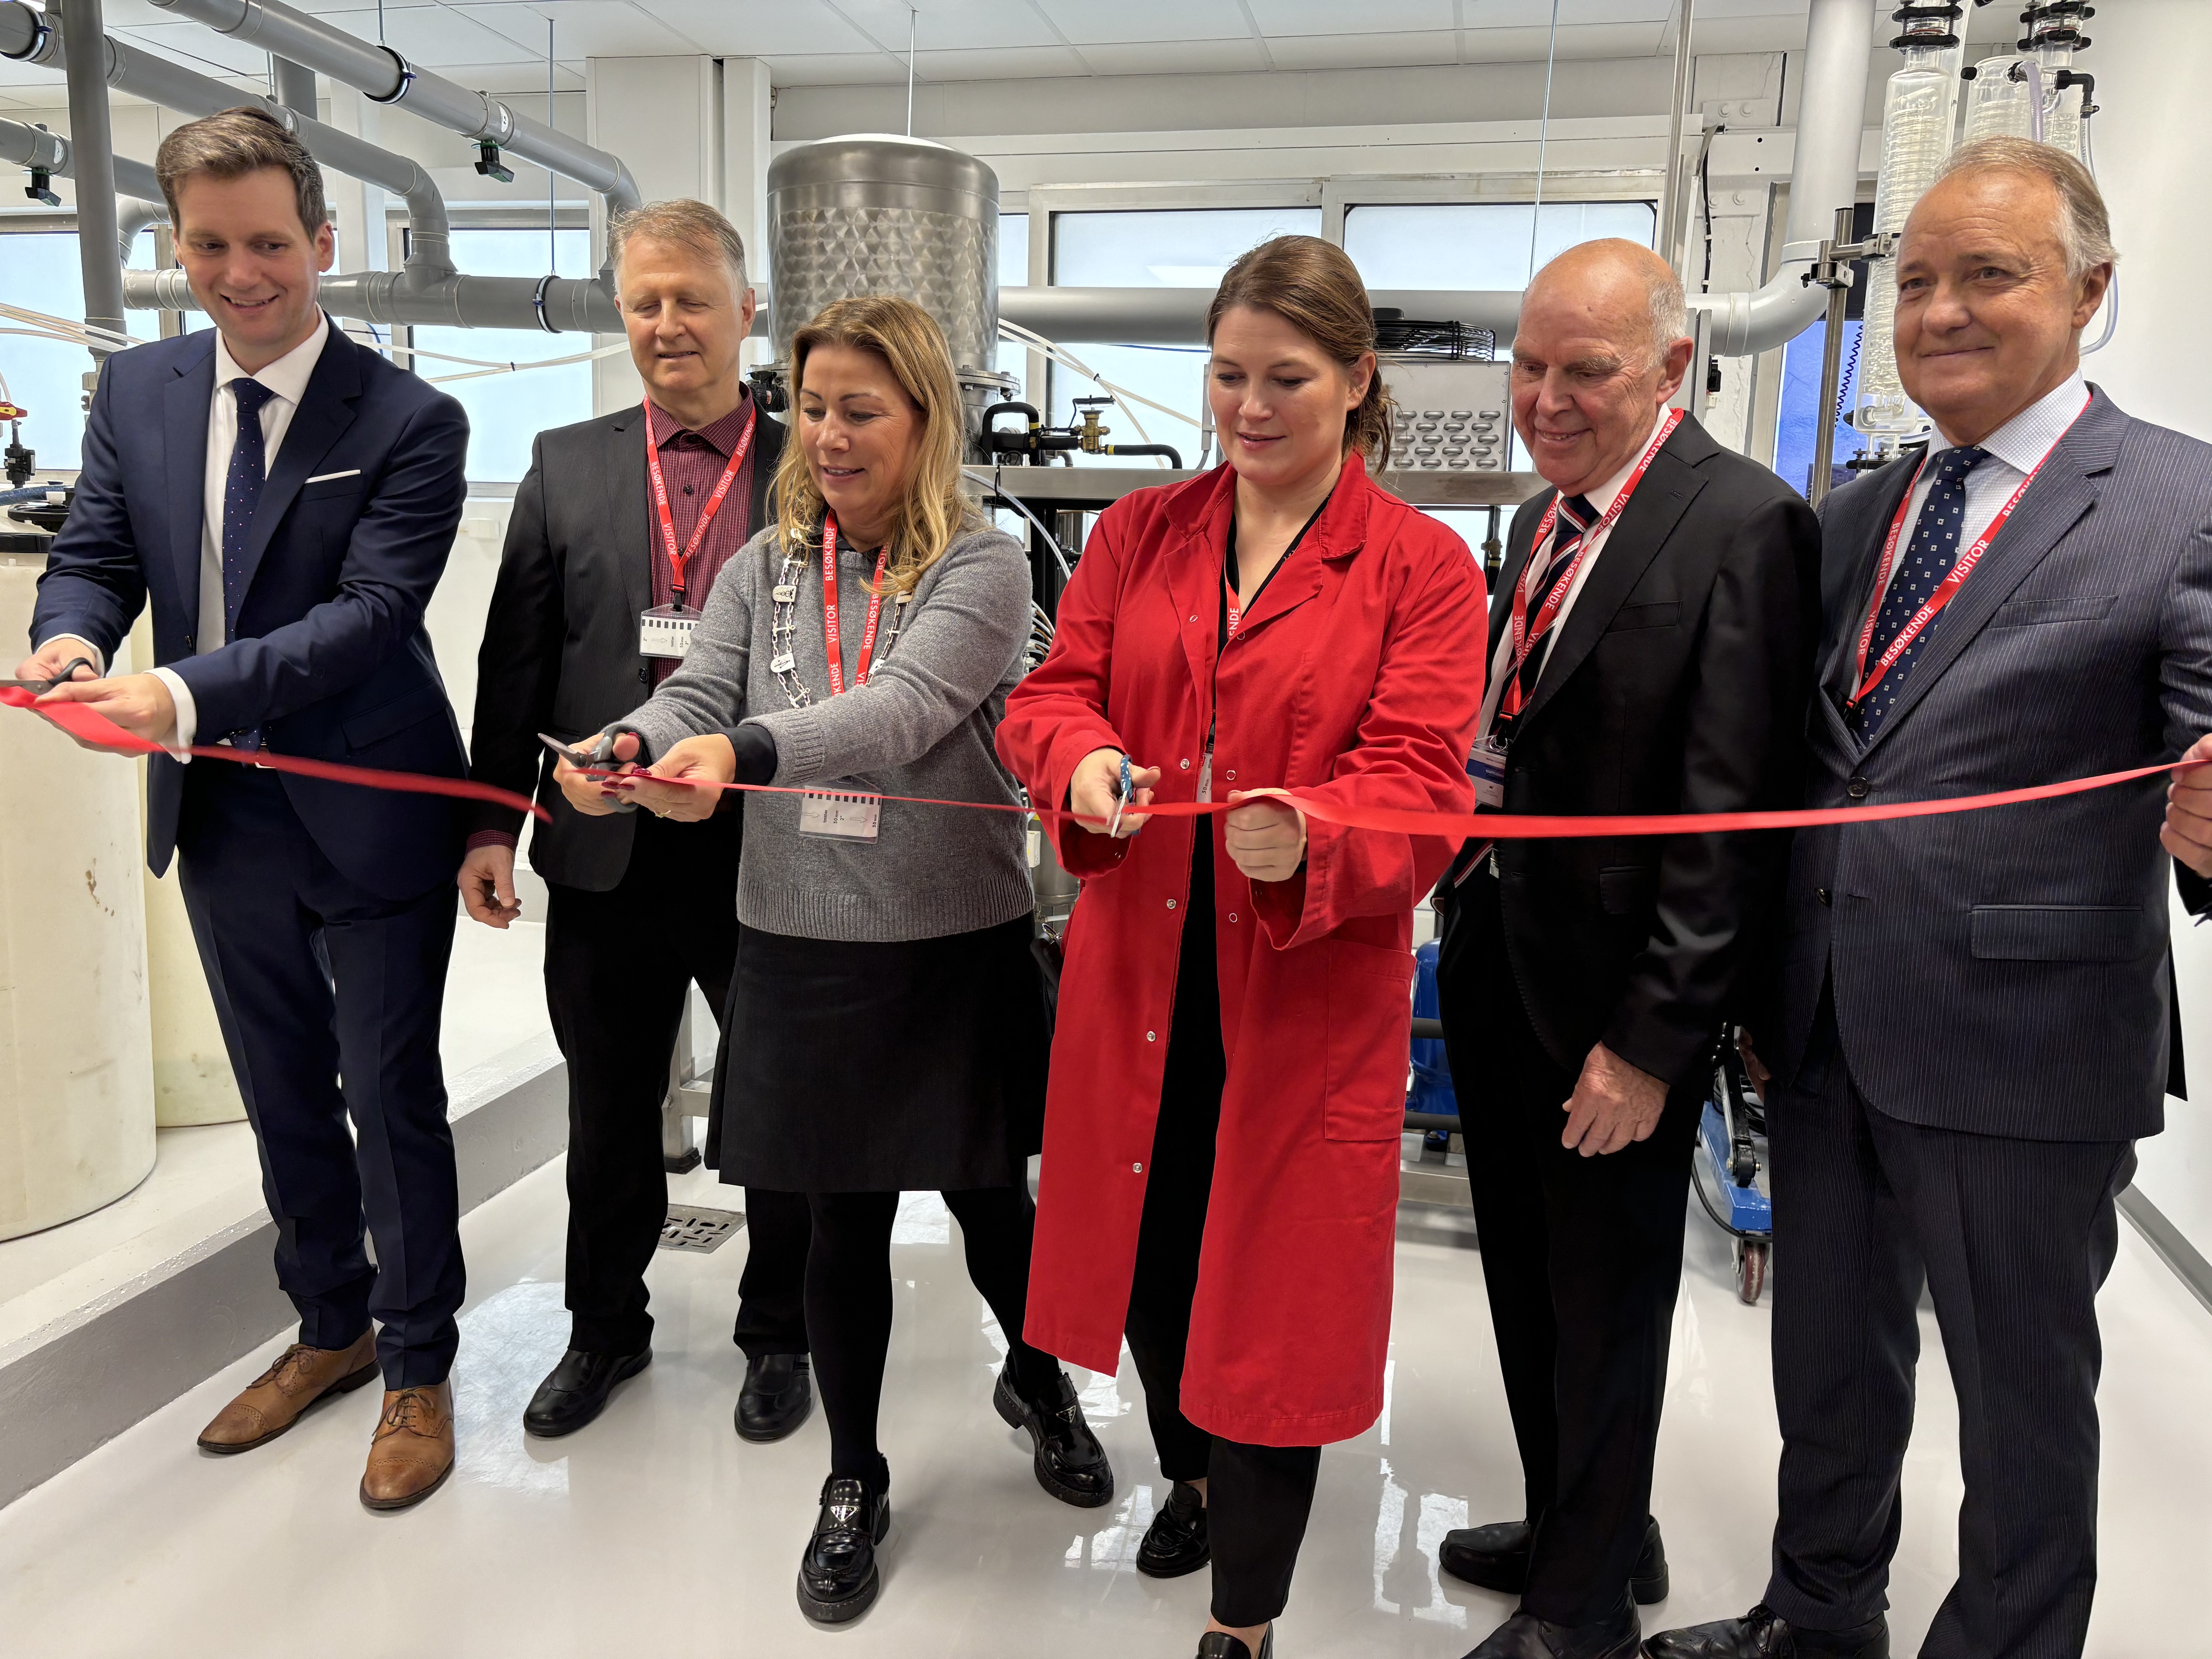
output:
[[[896,606],[887,599],[867,686],[856,684],[856,672],[876,562],[841,546],[841,697],[830,695],[816,542],[794,584],[790,635],[794,672],[812,692],[807,708],[792,708],[770,670],[781,566],[770,524],[714,577],[684,666],[650,703],[608,730],[635,730],[646,754],[659,757],[686,737],[757,723],[776,739],[774,783],[1020,801],[991,748],[1029,635],[1029,560],[1020,542],[993,529],[956,538],[922,575],[889,648]],[[799,834],[799,796],[748,794],[737,916],[745,927],[799,938],[967,933],[1035,905],[1024,849],[1024,821],[1013,812],[885,801],[876,841],[836,841]]]

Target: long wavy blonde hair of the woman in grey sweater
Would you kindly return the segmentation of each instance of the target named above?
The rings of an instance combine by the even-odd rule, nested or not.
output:
[[[982,524],[982,513],[960,489],[960,449],[964,422],[960,383],[953,378],[953,354],[945,332],[911,299],[896,294],[860,294],[832,301],[821,316],[792,334],[792,409],[794,425],[799,389],[805,385],[807,356],[823,345],[874,352],[891,369],[891,378],[922,416],[922,436],[907,478],[907,495],[891,515],[885,546],[887,593],[914,593],[922,573],[945,557],[945,549],[967,529]],[[779,557],[794,544],[821,535],[827,502],[807,471],[805,445],[796,434],[783,445],[776,462],[776,529]]]

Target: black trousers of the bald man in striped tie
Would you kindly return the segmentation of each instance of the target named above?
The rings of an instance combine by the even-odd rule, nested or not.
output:
[[[1674,1091],[1619,1152],[1559,1144],[1579,1064],[1559,1066],[1528,1024],[1486,869],[1455,891],[1438,993],[1535,1522],[1522,1608],[1590,1624],[1621,1604],[1650,1513],[1703,1091]]]

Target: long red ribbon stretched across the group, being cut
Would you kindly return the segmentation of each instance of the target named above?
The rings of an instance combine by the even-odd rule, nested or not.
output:
[[[0,703],[29,708],[49,719],[75,739],[124,754],[166,754],[159,743],[133,737],[122,726],[100,714],[86,703],[40,703],[20,686],[0,688]],[[190,748],[192,759],[237,761],[261,765],[270,772],[294,772],[330,783],[358,783],[369,790],[403,790],[409,794],[445,794],[458,801],[493,801],[515,812],[529,812],[551,823],[551,814],[533,801],[491,783],[469,779],[434,779],[420,772],[380,772],[367,765],[338,765],[336,761],[310,761],[301,754],[272,754],[270,750]],[[1380,830],[1402,836],[1444,836],[1467,841],[1482,836],[1491,841],[1573,841],[1586,836],[1699,836],[1728,830],[1812,830],[1827,823],[1882,823],[1887,818],[1933,818],[1949,812],[1982,812],[1986,807],[2011,807],[2022,801],[2055,801],[2066,794],[2088,794],[2108,790],[2115,783],[2135,783],[2159,772],[2212,765],[2212,761],[2159,761],[2137,765],[2126,772],[2099,772],[2093,779],[2066,779],[2064,783],[2035,783],[2026,790],[1997,790],[1995,794],[1962,794],[1942,801],[1887,801],[1871,807],[1798,807],[1790,812],[1655,812],[1619,816],[1546,816],[1531,812],[1416,812],[1409,807],[1367,807],[1356,801],[1329,801],[1321,796],[1290,792],[1259,794],[1250,799],[1290,801],[1305,816],[1334,823],[1343,830]],[[591,779],[626,787],[646,774],[641,772],[586,772]],[[684,783],[692,790],[748,790],[752,794],[807,794],[807,787],[787,783],[699,783],[690,779],[653,779],[655,783]],[[1104,818],[1086,818],[1057,807],[1022,807],[1004,801],[938,801],[925,794],[885,794],[883,801],[898,801],[914,807],[969,807],[971,812],[1035,812],[1042,818],[1073,818],[1084,825],[1104,825]],[[1208,818],[1217,812],[1232,812],[1243,801],[1157,801],[1144,810],[1148,818]]]

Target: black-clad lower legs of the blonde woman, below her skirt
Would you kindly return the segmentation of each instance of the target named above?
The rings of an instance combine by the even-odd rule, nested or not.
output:
[[[969,1283],[982,1292],[1011,1343],[1006,1365],[1024,1400],[1048,1398],[1060,1360],[1020,1338],[1029,1307],[1029,1248],[1037,1208],[1029,1186],[947,1192],[960,1223]],[[883,1363],[891,1349],[891,1223],[896,1192],[810,1192],[814,1248],[807,1252],[807,1336],[814,1380],[830,1420],[830,1473],[889,1486],[876,1442]]]

